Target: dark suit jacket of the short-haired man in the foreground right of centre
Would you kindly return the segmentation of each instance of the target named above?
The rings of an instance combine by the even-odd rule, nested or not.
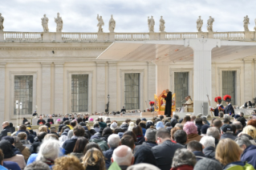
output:
[[[163,144],[159,144],[152,148],[152,152],[156,158],[156,164],[161,170],[170,170],[173,164],[173,156],[177,148],[184,148],[181,144],[174,144],[171,140],[165,140]]]

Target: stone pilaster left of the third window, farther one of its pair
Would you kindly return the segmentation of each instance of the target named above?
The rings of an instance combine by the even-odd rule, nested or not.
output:
[[[97,83],[97,89],[96,89],[96,111],[98,112],[104,112],[106,109],[106,102],[105,102],[105,83],[106,83],[106,71],[105,71],[105,63],[106,62],[96,62],[97,66],[97,76],[96,76],[96,83]],[[111,98],[114,96],[110,96]]]

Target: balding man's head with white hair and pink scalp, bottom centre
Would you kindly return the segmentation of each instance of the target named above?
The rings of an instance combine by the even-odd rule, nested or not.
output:
[[[134,156],[132,154],[132,149],[128,146],[121,145],[116,148],[112,154],[112,162],[116,162],[118,165],[130,166],[134,162]]]

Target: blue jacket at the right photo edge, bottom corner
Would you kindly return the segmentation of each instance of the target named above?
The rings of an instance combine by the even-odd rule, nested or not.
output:
[[[241,160],[246,161],[248,164],[251,164],[256,168],[256,146],[250,145],[247,147],[244,152],[242,152]]]

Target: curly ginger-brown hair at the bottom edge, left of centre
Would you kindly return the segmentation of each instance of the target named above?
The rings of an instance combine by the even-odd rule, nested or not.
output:
[[[84,169],[83,164],[80,163],[80,160],[76,156],[63,156],[55,160],[55,166],[53,170],[80,170]]]

